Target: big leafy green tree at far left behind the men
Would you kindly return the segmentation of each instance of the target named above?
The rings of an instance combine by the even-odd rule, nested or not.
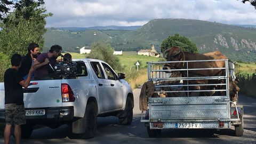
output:
[[[6,2],[6,1],[4,1]],[[2,20],[0,27],[0,51],[11,56],[14,52],[27,53],[27,46],[31,42],[43,47],[43,35],[46,31],[46,13],[43,0],[12,1],[14,11]]]

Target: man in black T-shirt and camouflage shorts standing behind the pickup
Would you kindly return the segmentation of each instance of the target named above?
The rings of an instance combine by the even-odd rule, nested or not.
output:
[[[31,74],[34,67],[31,67],[28,72],[28,77],[24,80],[19,74],[18,69],[21,66],[21,55],[13,54],[11,58],[12,67],[4,73],[4,92],[5,92],[5,129],[4,143],[9,143],[11,127],[14,124],[15,142],[20,143],[21,127],[26,124],[25,108],[23,103],[22,86],[28,87]]]

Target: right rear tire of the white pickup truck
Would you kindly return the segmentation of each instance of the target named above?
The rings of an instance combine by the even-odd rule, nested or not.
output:
[[[97,105],[94,102],[87,103],[85,114],[85,132],[77,134],[79,138],[90,139],[95,136],[97,129]]]

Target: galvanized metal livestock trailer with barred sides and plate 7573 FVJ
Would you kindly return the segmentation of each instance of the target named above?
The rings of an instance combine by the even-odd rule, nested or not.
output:
[[[225,62],[223,67],[203,65],[214,61]],[[190,63],[198,68],[190,68]],[[167,65],[166,65],[167,63]],[[163,69],[170,64],[184,65],[181,69]],[[149,137],[162,129],[231,129],[243,135],[243,106],[231,101],[230,86],[234,82],[234,63],[228,60],[194,60],[147,62],[148,81],[158,97],[148,97],[148,109],[142,110]],[[199,70],[216,70],[221,75],[193,75]],[[174,75],[177,74],[178,75]],[[209,72],[210,73],[210,72]],[[181,75],[180,75],[181,74]],[[237,97],[236,93],[236,97]]]

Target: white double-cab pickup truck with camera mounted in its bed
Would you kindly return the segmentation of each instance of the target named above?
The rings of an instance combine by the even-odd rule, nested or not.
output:
[[[54,79],[31,81],[23,88],[27,124],[22,125],[22,138],[29,138],[37,124],[51,128],[68,124],[76,137],[92,138],[97,116],[117,116],[121,124],[131,124],[133,93],[124,74],[117,75],[106,62],[95,59],[60,62],[52,68]],[[0,121],[5,122],[4,83],[0,83]]]

